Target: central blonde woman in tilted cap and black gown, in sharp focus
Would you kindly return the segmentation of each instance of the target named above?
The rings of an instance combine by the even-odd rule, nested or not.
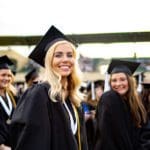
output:
[[[75,46],[52,26],[29,57],[45,67],[45,78],[13,113],[12,149],[87,150]]]

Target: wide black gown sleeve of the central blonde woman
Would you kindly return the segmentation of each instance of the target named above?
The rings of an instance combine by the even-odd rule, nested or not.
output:
[[[48,91],[41,85],[35,85],[23,94],[12,115],[12,149],[50,149],[47,99]]]

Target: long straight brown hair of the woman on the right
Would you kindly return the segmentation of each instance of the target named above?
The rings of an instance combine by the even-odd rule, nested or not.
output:
[[[135,78],[128,74],[126,74],[126,77],[128,80],[129,89],[123,97],[128,101],[135,125],[137,127],[141,127],[141,124],[146,122],[146,111],[142,104],[142,100],[137,92],[137,85]]]

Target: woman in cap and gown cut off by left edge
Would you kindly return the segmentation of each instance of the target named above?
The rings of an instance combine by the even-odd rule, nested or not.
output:
[[[0,149],[10,144],[9,123],[16,107],[12,65],[13,62],[6,55],[0,57]]]

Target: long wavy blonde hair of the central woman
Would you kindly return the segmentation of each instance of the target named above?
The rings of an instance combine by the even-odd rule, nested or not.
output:
[[[47,81],[51,88],[49,91],[49,96],[50,99],[53,102],[57,102],[56,97],[61,97],[61,90],[62,90],[62,84],[61,84],[61,76],[56,73],[53,68],[52,68],[52,61],[53,61],[53,56],[55,49],[58,45],[60,44],[69,44],[73,50],[73,57],[76,59],[77,54],[75,47],[68,41],[58,41],[55,44],[53,44],[47,51],[46,56],[45,56],[45,81]],[[76,59],[77,60],[77,59]],[[80,106],[80,95],[78,93],[79,86],[81,84],[81,79],[80,79],[80,70],[77,67],[77,61],[75,62],[73,71],[71,75],[68,76],[68,91],[69,91],[69,97],[72,103],[75,106]],[[67,84],[67,83],[66,83]]]

